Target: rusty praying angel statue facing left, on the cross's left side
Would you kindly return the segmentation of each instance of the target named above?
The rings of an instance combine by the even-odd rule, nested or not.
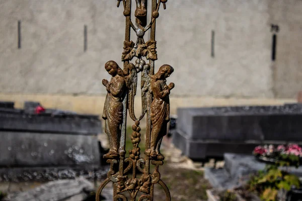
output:
[[[122,69],[115,61],[105,64],[106,71],[112,76],[110,82],[103,79],[106,86],[107,96],[103,111],[105,120],[105,133],[109,138],[109,152],[104,158],[115,158],[118,156],[119,140],[121,136],[121,125],[123,122],[123,98],[126,92],[126,82]]]

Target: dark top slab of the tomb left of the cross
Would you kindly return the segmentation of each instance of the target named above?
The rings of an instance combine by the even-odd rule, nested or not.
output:
[[[0,131],[28,131],[43,133],[68,133],[80,135],[97,135],[102,133],[98,116],[49,114],[0,113]]]

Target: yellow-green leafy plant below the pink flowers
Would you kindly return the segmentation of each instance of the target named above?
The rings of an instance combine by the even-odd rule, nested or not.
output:
[[[252,176],[248,184],[249,189],[257,191],[265,201],[276,200],[279,189],[290,190],[292,185],[300,186],[298,177],[278,169],[277,164],[266,166],[264,171]]]

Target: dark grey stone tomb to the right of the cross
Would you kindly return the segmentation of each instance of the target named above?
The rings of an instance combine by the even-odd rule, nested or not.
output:
[[[177,116],[172,142],[192,159],[248,154],[262,143],[302,142],[300,104],[179,108]]]

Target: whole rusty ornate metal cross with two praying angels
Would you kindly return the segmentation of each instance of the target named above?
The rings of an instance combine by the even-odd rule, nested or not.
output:
[[[126,201],[125,193],[130,200],[153,200],[154,185],[159,184],[166,193],[166,200],[171,200],[170,192],[166,184],[161,180],[159,166],[163,165],[164,156],[160,153],[162,138],[167,133],[167,123],[170,120],[169,94],[174,88],[174,83],[167,85],[166,78],[173,72],[170,65],[163,65],[157,73],[154,73],[154,61],[157,60],[155,29],[156,19],[159,17],[160,5],[166,9],[167,0],[152,1],[151,22],[147,24],[147,0],[135,0],[135,25],[131,21],[131,1],[121,2],[126,17],[126,31],[124,51],[122,53],[123,69],[115,61],[108,61],[105,69],[112,76],[111,80],[103,80],[107,96],[105,100],[103,119],[105,120],[105,132],[109,138],[110,149],[104,158],[110,163],[107,178],[99,186],[96,200],[100,200],[102,189],[112,181],[114,183],[113,200]],[[131,29],[137,39],[130,41]],[[143,36],[150,30],[150,40],[145,42]],[[130,61],[136,57],[135,64]],[[146,61],[143,60],[145,57]],[[137,88],[137,76],[141,74],[141,105],[142,111],[139,117],[134,114],[134,97]],[[130,157],[125,158],[126,117],[127,112],[133,121],[132,126],[132,150]],[[140,120],[146,115],[146,140],[145,157],[140,158]],[[154,172],[150,172],[150,165],[155,166]],[[128,176],[132,173],[131,176]],[[141,176],[138,176],[140,174]]]

